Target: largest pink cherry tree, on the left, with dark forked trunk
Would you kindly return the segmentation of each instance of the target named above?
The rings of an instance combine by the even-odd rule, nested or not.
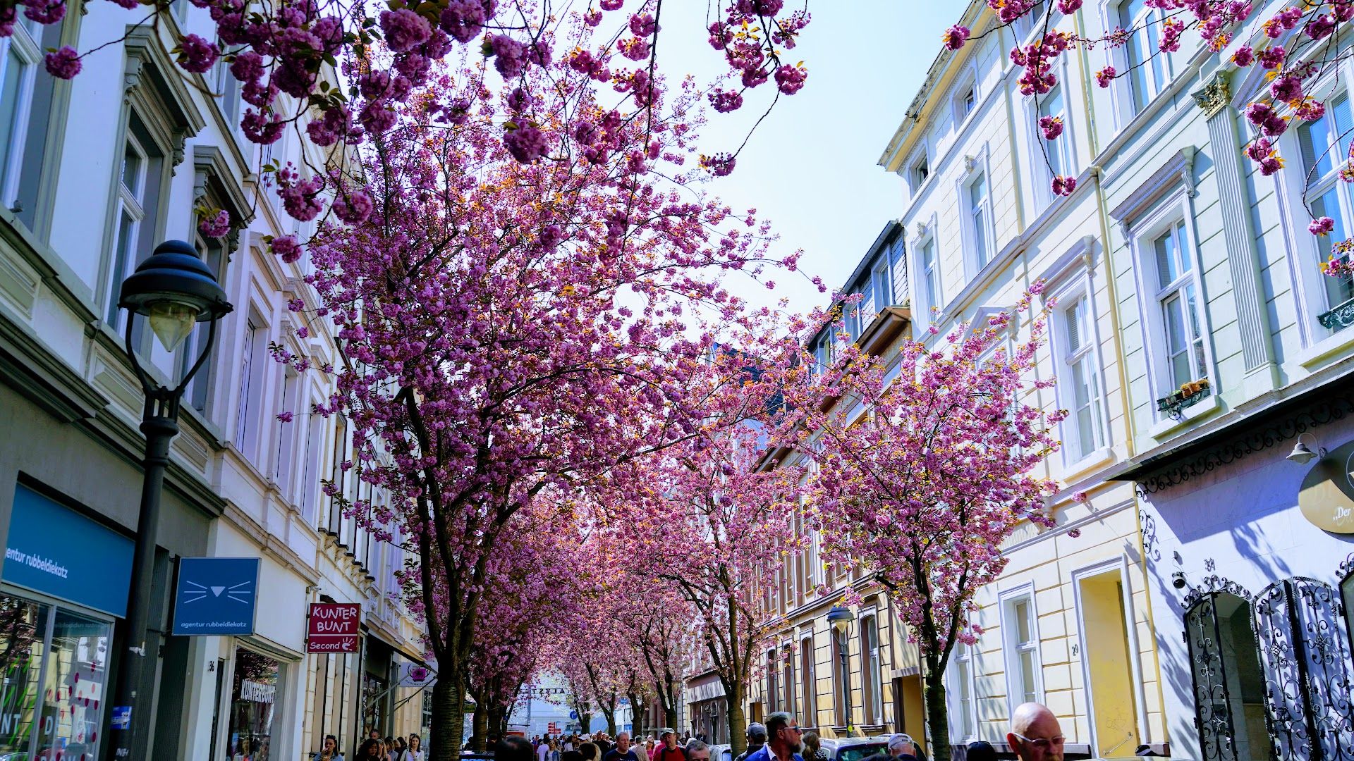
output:
[[[326,493],[378,536],[398,527],[422,559],[403,580],[439,664],[437,758],[460,745],[496,550],[515,516],[540,520],[544,505],[570,520],[598,479],[636,487],[617,466],[731,424],[711,417],[707,399],[730,380],[708,356],[765,313],[722,280],[793,267],[768,259],[765,225],[685,184],[695,93],[673,95],[677,116],[626,118],[582,72],[532,72],[554,77],[531,88],[550,99],[517,106],[547,142],[567,131],[585,149],[524,162],[474,70],[429,74],[398,122],[368,135],[360,173],[328,175],[336,219],[306,246],[320,301],[291,305],[334,325],[343,362],[320,370],[338,391],[314,412],[351,418],[344,467],[390,506]],[[657,84],[654,97],[665,97]],[[271,248],[303,255],[290,237]]]

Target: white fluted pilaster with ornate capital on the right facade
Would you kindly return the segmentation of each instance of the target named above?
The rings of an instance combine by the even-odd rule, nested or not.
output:
[[[1231,106],[1228,76],[1225,70],[1219,72],[1192,95],[1208,114],[1213,177],[1217,180],[1227,267],[1232,276],[1232,299],[1236,306],[1236,329],[1242,343],[1246,385],[1251,386],[1252,378],[1255,383],[1247,393],[1252,395],[1274,387],[1277,367],[1265,314],[1255,226],[1251,223],[1251,204],[1242,176],[1242,144],[1236,131],[1236,110]]]

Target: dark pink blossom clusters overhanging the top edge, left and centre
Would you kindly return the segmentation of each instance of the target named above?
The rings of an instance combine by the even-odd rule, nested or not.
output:
[[[543,96],[554,79],[571,69],[609,85],[631,108],[651,110],[665,11],[662,0],[639,0],[628,14],[621,12],[624,0],[563,11],[550,0],[190,0],[213,22],[213,32],[202,37],[179,31],[169,0],[111,1],[134,11],[133,24],[173,30],[177,45],[172,54],[185,74],[204,74],[219,64],[238,80],[246,103],[240,127],[248,139],[268,145],[291,129],[321,146],[355,145],[385,131],[440,61],[471,53],[482,56],[486,65],[492,62],[496,76],[525,96]],[[28,22],[50,24],[65,18],[69,4],[5,0],[0,3],[0,37],[14,32],[20,7]],[[692,11],[669,3],[668,14],[673,12]],[[784,0],[727,3],[708,26],[708,42],[726,64],[724,76],[709,85],[712,106],[737,110],[749,91],[768,83],[773,83],[766,89],[774,89],[774,99],[798,92],[807,70],[783,56],[807,24],[807,8],[787,8]],[[46,69],[72,79],[91,53],[114,42],[85,51],[70,46],[51,50]],[[558,42],[563,45],[556,49]],[[389,56],[374,57],[375,46]],[[337,84],[338,70],[352,81],[347,92]],[[539,72],[547,76],[535,76]],[[506,145],[517,148],[513,154],[520,158],[551,146],[531,122],[502,119],[497,130]],[[714,172],[727,173],[734,156],[715,154],[708,164]],[[313,198],[318,190],[307,188],[307,195]],[[215,221],[218,211],[203,217]]]

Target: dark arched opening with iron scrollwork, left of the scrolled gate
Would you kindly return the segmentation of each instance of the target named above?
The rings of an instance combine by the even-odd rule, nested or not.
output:
[[[1269,758],[1250,594],[1228,585],[1227,592],[1192,592],[1185,603],[1200,752],[1209,761]]]

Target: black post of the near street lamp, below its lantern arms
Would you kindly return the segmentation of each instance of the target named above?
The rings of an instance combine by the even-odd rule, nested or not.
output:
[[[157,394],[158,395],[158,394]],[[114,718],[119,712],[126,718],[112,726],[114,758],[145,757],[144,742],[138,742],[133,708],[137,707],[141,687],[142,666],[146,662],[146,631],[150,619],[150,586],[154,578],[156,535],[160,528],[160,492],[164,486],[165,467],[169,464],[169,441],[179,433],[173,417],[153,414],[169,408],[176,413],[177,399],[168,405],[157,405],[154,395],[146,397],[146,416],[141,421],[141,432],[146,435],[146,478],[141,485],[141,510],[137,517],[137,544],[131,559],[131,597],[127,600],[126,655],[118,668],[118,682],[114,689]],[[175,416],[176,417],[176,416]],[[156,657],[157,654],[150,654]],[[148,703],[149,705],[149,703]],[[141,753],[133,756],[133,749]]]

